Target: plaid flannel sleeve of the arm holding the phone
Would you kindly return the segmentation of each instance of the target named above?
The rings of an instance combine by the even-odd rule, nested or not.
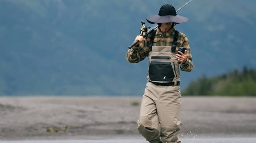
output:
[[[181,64],[180,69],[182,71],[191,71],[194,67],[193,62],[192,62],[192,55],[190,52],[190,47],[189,47],[189,40],[187,38],[187,36],[185,36],[184,41],[182,43],[182,47],[186,47],[187,50],[187,61],[184,64]]]

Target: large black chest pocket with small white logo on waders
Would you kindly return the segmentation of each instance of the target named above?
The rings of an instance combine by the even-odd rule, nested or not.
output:
[[[151,61],[148,70],[151,81],[173,81],[174,73],[171,62]]]

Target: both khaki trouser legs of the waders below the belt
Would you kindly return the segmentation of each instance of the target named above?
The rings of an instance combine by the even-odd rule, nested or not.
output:
[[[158,124],[161,125],[163,143],[180,143],[178,131],[181,127],[180,87],[156,86],[148,82],[140,107],[137,128],[140,134],[152,143],[159,143]]]

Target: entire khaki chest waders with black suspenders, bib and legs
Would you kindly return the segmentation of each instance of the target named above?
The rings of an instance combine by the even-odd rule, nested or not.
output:
[[[139,133],[151,143],[180,143],[180,71],[175,50],[178,31],[172,46],[152,46],[156,30],[150,39],[147,85],[137,122]],[[157,130],[160,123],[161,131]]]

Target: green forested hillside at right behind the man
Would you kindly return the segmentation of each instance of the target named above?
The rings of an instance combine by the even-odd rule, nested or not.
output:
[[[256,96],[256,69],[245,66],[216,77],[204,75],[190,82],[182,95]]]

